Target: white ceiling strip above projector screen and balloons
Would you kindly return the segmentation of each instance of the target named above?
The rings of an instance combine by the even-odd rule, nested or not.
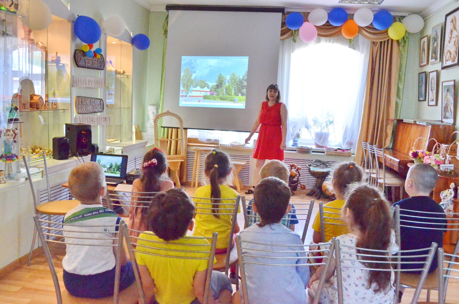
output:
[[[211,6],[281,6],[288,9],[342,7],[353,12],[361,7],[371,10],[418,13],[427,16],[453,0],[384,0],[381,5],[338,4],[338,0],[135,0],[151,11],[162,11],[166,5]]]

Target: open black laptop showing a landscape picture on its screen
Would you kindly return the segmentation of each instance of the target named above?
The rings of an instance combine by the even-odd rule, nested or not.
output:
[[[126,180],[127,155],[91,153],[91,162],[99,163],[102,166],[107,185],[115,186]]]

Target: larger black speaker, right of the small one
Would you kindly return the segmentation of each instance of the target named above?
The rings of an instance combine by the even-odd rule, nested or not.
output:
[[[90,124],[65,124],[65,137],[68,138],[72,156],[91,154],[92,133]]]

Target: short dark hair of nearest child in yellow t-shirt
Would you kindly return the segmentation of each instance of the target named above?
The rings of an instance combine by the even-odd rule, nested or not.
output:
[[[146,209],[146,208],[143,208]],[[195,214],[195,204],[183,188],[158,193],[146,215],[148,229],[164,241],[184,236]]]

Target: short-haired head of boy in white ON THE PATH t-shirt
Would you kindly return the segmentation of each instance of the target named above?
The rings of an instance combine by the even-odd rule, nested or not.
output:
[[[99,198],[102,187],[106,187],[105,175],[98,163],[81,163],[68,175],[70,193],[80,202]]]

